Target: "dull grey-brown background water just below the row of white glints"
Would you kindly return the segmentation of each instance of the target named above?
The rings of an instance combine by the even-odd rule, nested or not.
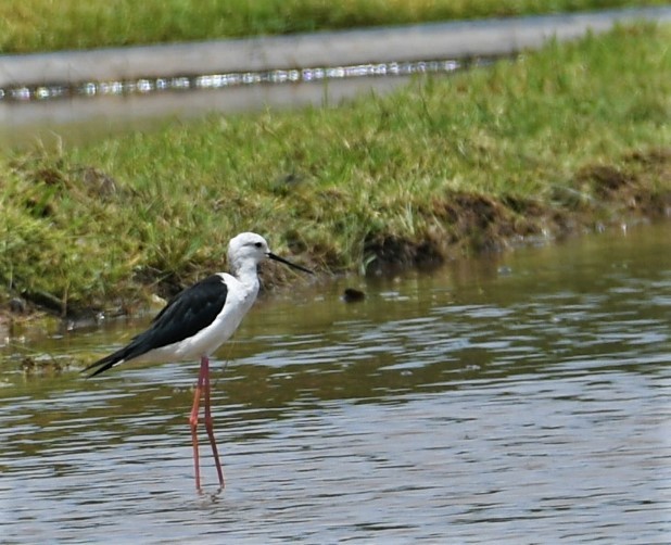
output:
[[[353,78],[287,85],[194,88],[149,96],[105,96],[91,100],[13,103],[0,101],[0,145],[22,149],[39,142],[48,149],[134,130],[155,130],[166,119],[192,119],[212,112],[235,114],[263,107],[292,110],[338,105],[365,92],[385,94],[412,81],[409,76]]]

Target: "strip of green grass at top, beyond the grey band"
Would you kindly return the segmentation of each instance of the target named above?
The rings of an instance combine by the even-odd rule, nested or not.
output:
[[[663,5],[666,0],[23,0],[0,2],[0,53]]]

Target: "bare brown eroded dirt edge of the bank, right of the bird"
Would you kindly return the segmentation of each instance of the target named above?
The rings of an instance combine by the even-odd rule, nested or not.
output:
[[[620,165],[585,165],[549,202],[450,192],[433,200],[429,214],[433,225],[419,240],[368,240],[369,269],[434,265],[537,237],[557,239],[608,224],[671,217],[671,149],[632,153]]]

